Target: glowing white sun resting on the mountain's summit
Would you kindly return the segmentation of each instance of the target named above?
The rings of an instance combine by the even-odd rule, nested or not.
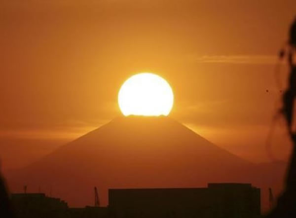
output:
[[[167,116],[174,104],[169,83],[154,73],[138,73],[128,78],[118,93],[123,115]]]

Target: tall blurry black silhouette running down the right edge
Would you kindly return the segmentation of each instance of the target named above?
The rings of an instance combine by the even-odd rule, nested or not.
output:
[[[278,198],[277,206],[267,215],[267,218],[295,218],[296,217],[296,132],[293,131],[294,107],[296,99],[296,19],[289,32],[288,46],[279,53],[280,59],[287,58],[290,74],[288,88],[283,94],[281,113],[287,121],[289,136],[293,142],[293,151],[287,170],[285,190]]]

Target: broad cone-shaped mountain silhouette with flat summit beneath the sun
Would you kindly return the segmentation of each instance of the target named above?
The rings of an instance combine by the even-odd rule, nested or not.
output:
[[[264,172],[172,118],[122,116],[10,175],[9,184],[14,192],[25,184],[29,192],[40,187],[70,206],[92,205],[97,186],[100,201],[107,205],[109,188],[261,184],[270,176],[263,168]]]

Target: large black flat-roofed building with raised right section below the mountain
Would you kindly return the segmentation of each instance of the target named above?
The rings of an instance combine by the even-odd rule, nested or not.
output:
[[[258,218],[260,189],[242,183],[110,189],[109,210],[111,218]]]

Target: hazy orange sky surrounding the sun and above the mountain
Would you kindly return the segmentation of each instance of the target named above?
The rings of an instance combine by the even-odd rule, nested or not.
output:
[[[173,118],[239,156],[267,160],[279,99],[275,55],[295,0],[81,2],[1,1],[4,167],[24,165],[118,116],[120,85],[139,72],[171,84]],[[289,145],[278,129],[272,145],[283,158]]]

